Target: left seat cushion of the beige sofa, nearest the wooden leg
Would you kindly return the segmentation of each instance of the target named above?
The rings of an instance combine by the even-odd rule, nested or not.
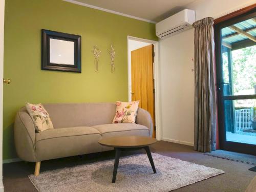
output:
[[[101,151],[100,132],[87,126],[46,130],[36,133],[36,158],[39,161]]]

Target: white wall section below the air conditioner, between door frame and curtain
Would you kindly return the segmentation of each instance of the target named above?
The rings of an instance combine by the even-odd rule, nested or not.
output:
[[[192,29],[160,41],[162,140],[188,145],[194,143],[193,38]]]

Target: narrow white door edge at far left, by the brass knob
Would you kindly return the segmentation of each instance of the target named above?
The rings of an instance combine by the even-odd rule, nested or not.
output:
[[[0,191],[3,185],[3,71],[4,71],[4,23],[5,0],[0,0]]]

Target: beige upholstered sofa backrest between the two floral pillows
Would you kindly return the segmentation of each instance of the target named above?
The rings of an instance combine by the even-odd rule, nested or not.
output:
[[[54,128],[92,126],[112,123],[115,103],[54,103],[43,104]],[[21,109],[21,110],[26,110]]]

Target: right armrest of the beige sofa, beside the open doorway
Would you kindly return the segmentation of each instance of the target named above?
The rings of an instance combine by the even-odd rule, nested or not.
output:
[[[146,126],[148,129],[150,129],[150,137],[152,137],[153,134],[153,121],[151,118],[150,113],[148,111],[139,108],[137,117],[136,117],[136,123]]]

